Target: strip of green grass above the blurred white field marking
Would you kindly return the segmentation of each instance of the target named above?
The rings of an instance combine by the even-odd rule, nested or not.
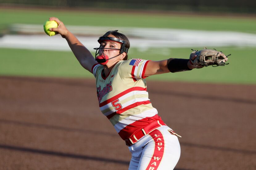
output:
[[[60,10],[1,9],[0,27],[13,23],[44,24],[52,16],[66,25],[154,27],[191,30],[238,31],[256,34],[256,18],[207,17],[195,15],[105,13]]]

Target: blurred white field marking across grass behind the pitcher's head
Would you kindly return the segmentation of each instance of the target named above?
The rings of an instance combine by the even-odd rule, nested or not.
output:
[[[21,27],[21,26],[18,26]],[[40,26],[40,29],[42,26]],[[78,27],[70,26],[71,32],[83,35],[77,38],[90,51],[99,47],[97,39],[105,30],[109,28],[101,27]],[[131,48],[137,48],[141,51],[150,48],[168,48],[168,47],[223,47],[223,46],[256,46],[256,34],[230,32],[230,31],[203,31],[203,30],[177,30],[177,29],[156,29],[156,28],[118,28],[126,34],[130,40]],[[25,29],[26,30],[26,29]],[[30,29],[31,30],[31,29]],[[41,31],[40,30],[40,31]],[[98,30],[97,34],[93,30]],[[43,31],[41,31],[43,32]],[[24,32],[25,33],[25,32]],[[78,34],[77,33],[77,34]],[[40,49],[40,50],[60,50],[71,51],[67,42],[60,35],[49,37],[42,35],[3,35],[0,38],[0,47],[22,48],[22,49]],[[159,52],[156,52],[159,54]],[[166,52],[164,52],[166,53]]]

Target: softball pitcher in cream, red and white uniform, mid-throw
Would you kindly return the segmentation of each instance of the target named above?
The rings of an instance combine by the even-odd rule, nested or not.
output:
[[[50,30],[67,40],[80,64],[96,78],[100,110],[131,152],[129,170],[173,169],[180,158],[179,135],[163,122],[152,106],[145,78],[191,70],[196,68],[193,59],[127,60],[130,42],[117,30],[108,31],[98,39],[100,46],[95,48],[94,58],[63,22],[55,17],[50,20],[58,23],[57,28]]]

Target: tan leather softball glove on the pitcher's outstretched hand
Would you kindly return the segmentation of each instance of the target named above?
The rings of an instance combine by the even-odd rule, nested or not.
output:
[[[192,49],[193,50],[193,49]],[[223,54],[221,51],[217,51],[216,49],[202,49],[200,51],[193,50],[190,54],[189,61],[190,64],[195,68],[202,68],[212,65],[213,67],[217,67],[220,65],[227,65],[228,56]]]

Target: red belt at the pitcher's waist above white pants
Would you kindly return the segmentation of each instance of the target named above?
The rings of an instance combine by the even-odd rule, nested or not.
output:
[[[125,143],[127,146],[131,146],[135,144],[140,138],[143,136],[149,134],[151,131],[155,130],[156,128],[159,128],[160,126],[166,125],[163,123],[163,121],[155,121],[152,122],[151,124],[145,126],[138,132],[134,133],[130,138],[125,140]]]

